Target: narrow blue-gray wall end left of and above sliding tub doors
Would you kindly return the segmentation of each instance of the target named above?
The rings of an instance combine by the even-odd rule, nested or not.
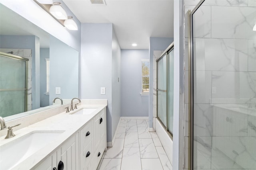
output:
[[[173,38],[150,37],[150,93],[149,93],[149,127],[153,127],[153,58],[154,51],[165,50],[171,43]]]

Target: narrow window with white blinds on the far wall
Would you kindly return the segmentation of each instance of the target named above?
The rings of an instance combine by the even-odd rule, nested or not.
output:
[[[143,59],[142,63],[142,91],[141,95],[148,95],[149,93],[149,71],[150,71],[150,63],[148,59]]]

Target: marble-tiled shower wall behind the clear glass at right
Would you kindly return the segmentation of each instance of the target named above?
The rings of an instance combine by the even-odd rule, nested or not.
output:
[[[194,169],[256,169],[255,23],[255,0],[205,0],[193,15]]]

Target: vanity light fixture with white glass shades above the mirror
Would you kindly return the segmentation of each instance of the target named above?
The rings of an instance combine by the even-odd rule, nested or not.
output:
[[[41,8],[43,8],[50,16],[58,21],[63,27],[70,30],[78,30],[76,22],[72,19],[72,16],[67,16],[67,13],[62,8],[60,2],[49,3],[52,0],[34,0]],[[40,3],[42,2],[42,3]]]

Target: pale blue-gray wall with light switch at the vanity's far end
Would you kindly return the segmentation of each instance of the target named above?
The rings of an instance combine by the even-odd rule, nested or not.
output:
[[[112,23],[82,23],[80,95],[81,99],[108,100],[108,142],[112,141],[120,119],[120,82],[116,81],[120,75],[118,63],[120,47]],[[105,95],[100,94],[100,87],[106,88]]]

